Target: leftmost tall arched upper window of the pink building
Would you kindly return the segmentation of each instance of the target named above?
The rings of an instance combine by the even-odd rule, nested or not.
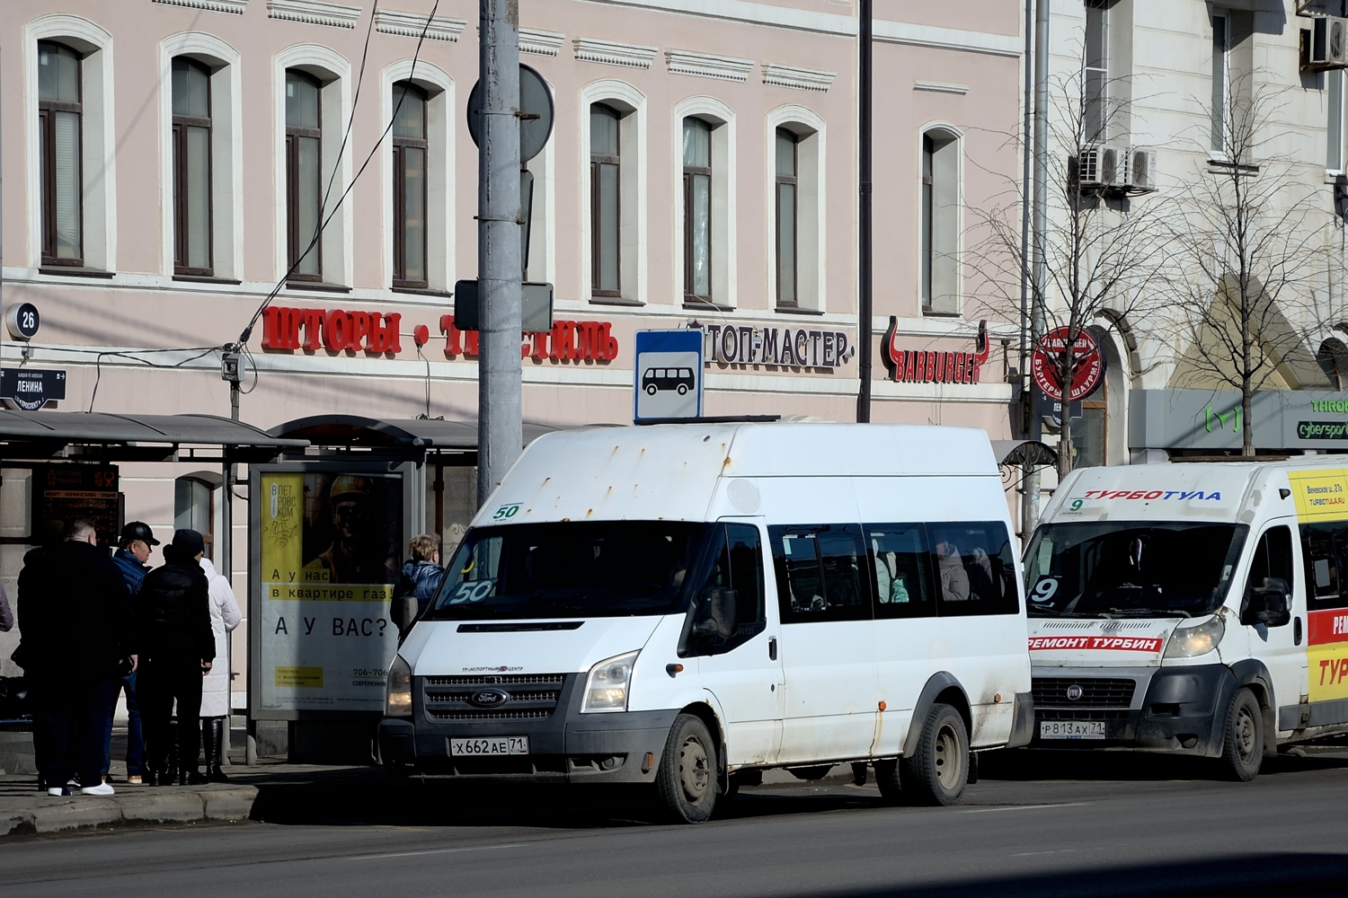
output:
[[[43,265],[84,265],[81,57],[62,43],[38,42]]]

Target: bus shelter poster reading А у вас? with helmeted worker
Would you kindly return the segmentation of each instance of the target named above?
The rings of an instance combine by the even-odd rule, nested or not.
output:
[[[259,711],[381,712],[398,627],[402,477],[266,471]]]

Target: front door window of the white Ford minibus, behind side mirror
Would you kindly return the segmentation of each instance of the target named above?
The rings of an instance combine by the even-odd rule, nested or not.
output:
[[[744,645],[767,629],[763,603],[763,544],[758,528],[749,524],[727,524],[716,528],[716,548],[706,579],[696,594],[693,638],[687,654],[724,654]],[[733,590],[735,617],[727,621],[729,635],[717,633],[724,614],[718,591]],[[681,657],[686,657],[681,653]]]

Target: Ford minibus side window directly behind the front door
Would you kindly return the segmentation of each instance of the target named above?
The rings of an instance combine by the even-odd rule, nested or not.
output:
[[[767,532],[782,623],[871,619],[869,559],[859,525],[794,524]]]

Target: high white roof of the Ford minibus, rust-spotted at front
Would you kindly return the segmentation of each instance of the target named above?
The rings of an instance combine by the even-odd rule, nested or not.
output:
[[[547,434],[474,524],[706,520],[720,477],[999,477],[981,429],[778,421],[596,427]]]

